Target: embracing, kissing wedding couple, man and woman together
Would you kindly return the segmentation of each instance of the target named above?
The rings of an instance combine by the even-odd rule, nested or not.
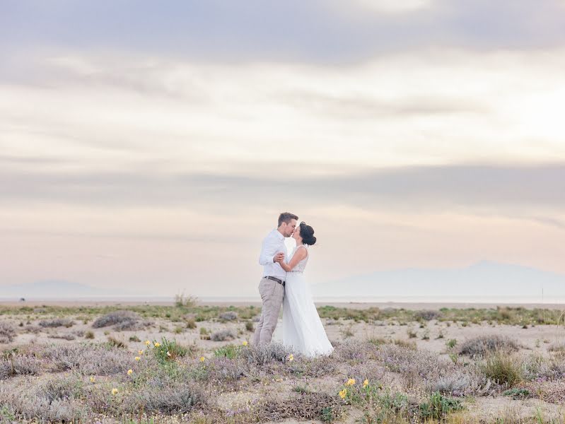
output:
[[[262,311],[253,343],[269,343],[283,307],[282,343],[306,356],[329,355],[333,351],[312,300],[304,270],[310,257],[308,247],[316,242],[314,230],[298,216],[284,212],[278,228],[263,240],[259,263],[264,267],[259,283]],[[286,257],[284,239],[293,237],[296,247]]]

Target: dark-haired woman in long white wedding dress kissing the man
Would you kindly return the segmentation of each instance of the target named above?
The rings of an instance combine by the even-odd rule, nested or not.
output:
[[[296,248],[288,261],[280,264],[286,271],[283,300],[282,338],[285,346],[296,349],[306,356],[329,355],[334,350],[327,339],[324,326],[312,300],[310,287],[304,278],[308,264],[308,246],[316,242],[314,230],[300,223],[292,235]]]

